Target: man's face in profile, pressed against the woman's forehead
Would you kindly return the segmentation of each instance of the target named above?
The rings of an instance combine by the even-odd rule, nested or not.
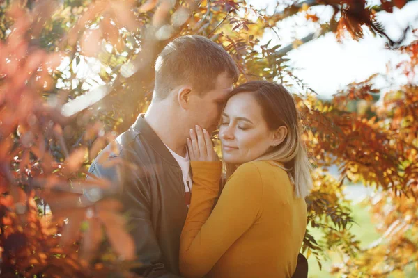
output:
[[[215,88],[194,98],[192,115],[190,115],[192,124],[201,126],[209,133],[215,131],[219,124],[222,108],[224,108],[232,89],[233,79],[229,78],[226,73],[219,74]]]

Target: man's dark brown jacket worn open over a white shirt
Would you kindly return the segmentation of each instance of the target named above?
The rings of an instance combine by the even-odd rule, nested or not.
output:
[[[180,166],[143,115],[116,143],[119,154],[98,163],[111,149],[107,146],[88,172],[116,185],[141,263],[134,272],[143,277],[179,277],[180,234],[187,215]],[[109,160],[120,158],[123,163],[105,167]]]

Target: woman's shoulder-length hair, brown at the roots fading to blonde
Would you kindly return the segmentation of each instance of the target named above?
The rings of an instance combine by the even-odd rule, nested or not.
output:
[[[281,167],[289,174],[295,185],[296,197],[306,197],[312,188],[311,163],[307,150],[301,138],[302,123],[297,111],[295,99],[283,85],[268,81],[250,81],[231,92],[231,96],[239,93],[254,95],[263,111],[263,117],[271,130],[286,126],[288,134],[281,144],[272,147],[256,161],[272,161],[284,165]],[[237,165],[226,163],[226,177],[231,176]]]

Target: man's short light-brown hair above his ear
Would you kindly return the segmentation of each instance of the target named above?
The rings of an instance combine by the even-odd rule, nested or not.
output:
[[[164,99],[178,85],[189,83],[203,94],[215,88],[217,76],[226,72],[235,83],[238,67],[226,50],[200,35],[176,38],[155,62],[155,95]]]

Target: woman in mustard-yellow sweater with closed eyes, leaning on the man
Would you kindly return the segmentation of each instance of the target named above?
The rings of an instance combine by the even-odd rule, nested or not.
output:
[[[282,85],[235,88],[219,126],[229,177],[215,208],[222,163],[208,132],[190,131],[194,185],[180,240],[184,277],[292,277],[312,183],[300,129]]]

